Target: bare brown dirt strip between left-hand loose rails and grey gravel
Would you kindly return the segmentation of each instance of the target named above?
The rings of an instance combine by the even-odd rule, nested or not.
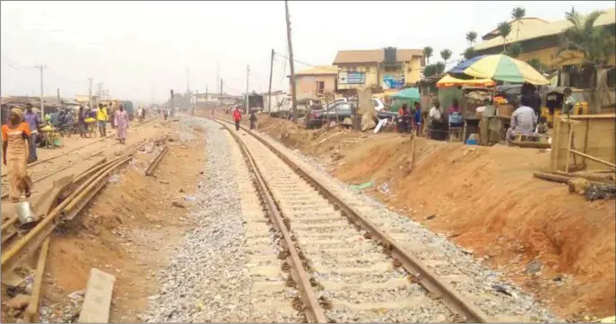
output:
[[[167,127],[169,152],[152,177],[143,171],[158,151],[138,153],[90,208],[52,238],[43,307],[56,319],[69,320],[71,310],[65,307],[71,304],[69,295],[84,291],[91,267],[97,267],[117,278],[110,322],[141,322],[138,314],[159,288],[158,270],[192,227],[183,217],[192,204],[186,197],[197,188],[205,159],[203,130],[185,130],[194,132],[195,139],[181,142],[177,125]]]

